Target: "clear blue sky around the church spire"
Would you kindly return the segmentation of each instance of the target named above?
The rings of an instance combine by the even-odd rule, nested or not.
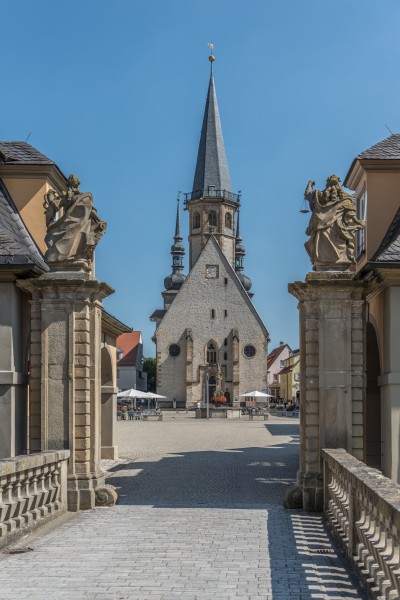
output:
[[[311,269],[299,213],[308,179],[344,178],[400,131],[397,0],[0,2],[0,139],[25,140],[91,191],[107,233],[106,308],[153,355],[177,191],[190,191],[215,45],[245,272],[271,345],[298,345],[290,281]],[[187,213],[182,215],[187,236]],[[187,256],[185,267],[187,272]]]

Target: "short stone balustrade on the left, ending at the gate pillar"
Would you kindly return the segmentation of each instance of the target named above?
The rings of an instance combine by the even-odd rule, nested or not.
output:
[[[0,547],[67,511],[69,450],[0,460]]]

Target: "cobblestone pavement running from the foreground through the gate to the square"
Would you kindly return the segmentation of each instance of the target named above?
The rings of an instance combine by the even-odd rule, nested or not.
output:
[[[298,420],[118,422],[112,509],[0,554],[1,600],[365,599],[320,515],[282,508]]]

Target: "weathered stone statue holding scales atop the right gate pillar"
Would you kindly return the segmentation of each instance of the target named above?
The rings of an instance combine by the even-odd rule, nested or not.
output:
[[[331,175],[323,191],[314,190],[309,181],[304,198],[311,208],[305,248],[314,271],[343,271],[355,263],[355,232],[364,227],[356,216],[353,196],[344,191],[340,177]]]

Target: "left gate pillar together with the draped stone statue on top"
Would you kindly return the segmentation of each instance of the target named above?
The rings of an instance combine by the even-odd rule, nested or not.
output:
[[[93,253],[106,223],[73,175],[67,191],[45,194],[50,271],[20,281],[31,295],[31,451],[69,448],[68,509],[113,504],[101,459],[101,301]]]

